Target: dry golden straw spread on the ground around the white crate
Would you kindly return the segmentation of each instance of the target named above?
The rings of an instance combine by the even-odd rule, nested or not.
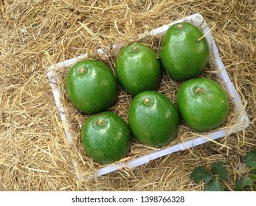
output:
[[[216,160],[226,163],[224,184],[232,191],[249,172],[245,154],[256,145],[255,1],[0,0],[0,7],[0,191],[202,191],[204,182],[193,183],[190,173]],[[77,180],[47,68],[193,13],[215,25],[211,33],[249,127],[219,140],[223,146],[205,143],[131,171]]]

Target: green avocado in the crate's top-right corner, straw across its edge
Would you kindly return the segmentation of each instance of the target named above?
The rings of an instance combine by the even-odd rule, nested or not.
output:
[[[188,22],[173,24],[167,29],[159,57],[170,77],[186,80],[201,74],[209,60],[206,38],[198,41],[203,35],[200,29]]]

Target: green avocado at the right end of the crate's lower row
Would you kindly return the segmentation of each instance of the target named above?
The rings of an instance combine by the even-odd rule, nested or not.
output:
[[[200,88],[201,92],[196,92]],[[177,107],[187,127],[197,131],[215,129],[229,113],[226,93],[217,82],[207,78],[184,82],[177,93]]]

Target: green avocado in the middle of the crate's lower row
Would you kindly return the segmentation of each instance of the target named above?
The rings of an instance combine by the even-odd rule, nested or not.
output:
[[[146,103],[145,98],[150,99]],[[165,146],[179,131],[179,113],[162,93],[145,91],[132,100],[128,123],[137,141],[148,146]]]

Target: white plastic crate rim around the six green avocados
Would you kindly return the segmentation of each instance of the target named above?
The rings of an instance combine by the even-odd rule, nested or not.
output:
[[[211,48],[210,59],[215,64],[216,71],[218,71],[217,76],[221,79],[221,82],[224,85],[224,87],[226,88],[226,91],[229,93],[229,95],[233,96],[232,103],[235,105],[235,110],[239,111],[239,114],[240,114],[239,116],[237,116],[237,119],[234,122],[235,127],[219,129],[215,132],[210,132],[204,136],[200,135],[200,136],[193,138],[189,141],[176,143],[173,146],[165,147],[164,149],[160,149],[156,152],[151,152],[150,154],[144,154],[141,157],[137,157],[133,160],[128,160],[126,162],[114,163],[110,166],[105,166],[103,168],[98,169],[95,172],[94,177],[99,177],[101,175],[108,174],[112,171],[116,171],[116,170],[118,170],[120,168],[124,168],[124,167],[125,168],[134,168],[136,166],[142,166],[143,164],[148,163],[149,161],[154,160],[156,158],[165,156],[167,154],[171,154],[173,152],[177,152],[179,150],[189,149],[193,146],[198,146],[202,143],[214,141],[218,138],[223,138],[226,135],[241,131],[242,129],[246,129],[246,127],[249,126],[249,118],[246,115],[245,110],[243,110],[243,105],[242,105],[241,99],[238,95],[238,92],[235,90],[234,85],[230,81],[228,74],[226,73],[224,64],[222,63],[221,57],[218,54],[217,46],[215,45],[215,42],[212,39],[212,36],[210,34],[210,28],[207,26],[207,22],[204,21],[204,18],[201,14],[196,13],[194,15],[187,16],[186,18],[183,18],[179,21],[174,21],[170,24],[161,26],[157,29],[153,29],[151,32],[147,32],[145,34],[140,35],[139,38],[143,38],[146,35],[152,36],[152,37],[156,36],[156,35],[164,35],[170,25],[176,24],[177,22],[181,22],[181,21],[189,21],[189,22],[195,24],[196,26],[199,26],[200,28],[204,28],[202,31],[204,32],[204,34],[207,34],[206,35],[207,43]],[[113,46],[113,49],[115,47],[119,47],[119,44]],[[104,50],[98,49],[97,53],[104,54]],[[61,120],[63,121],[63,129],[66,133],[66,140],[69,143],[72,143],[72,135],[71,135],[71,132],[69,132],[69,121],[66,118],[63,104],[60,102],[60,91],[58,88],[58,71],[60,71],[61,69],[64,69],[64,68],[66,69],[67,67],[72,67],[72,65],[77,63],[77,61],[84,59],[87,56],[88,56],[88,54],[83,54],[83,55],[80,55],[79,57],[74,57],[70,60],[65,60],[65,61],[57,63],[55,65],[51,65],[48,68],[47,75],[49,77],[49,82],[52,87],[52,92],[53,92],[53,96],[55,98],[56,106],[58,107],[58,109],[60,111],[60,117],[61,117]],[[75,151],[75,149],[74,149],[74,151]],[[73,165],[75,167],[75,171],[77,172],[77,161],[75,159],[73,160]],[[78,174],[78,172],[77,172],[77,178],[79,178],[79,179],[81,178],[80,174]],[[82,177],[82,178],[87,178],[87,177]]]

